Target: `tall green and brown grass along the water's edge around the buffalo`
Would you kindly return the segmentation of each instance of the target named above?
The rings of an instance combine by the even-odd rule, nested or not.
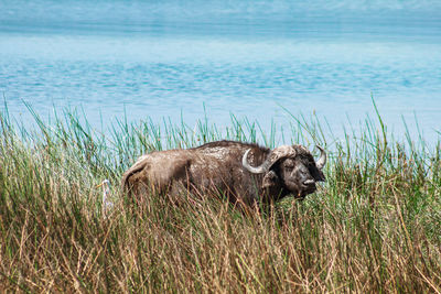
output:
[[[292,117],[284,141],[326,145],[327,181],[255,217],[209,195],[180,207],[147,195],[133,206],[120,175],[151,150],[219,139],[272,146],[276,128],[265,134],[233,117],[223,130],[120,121],[103,134],[72,112],[35,120],[29,130],[0,115],[1,292],[441,291],[440,145],[397,142],[379,117],[341,142]]]

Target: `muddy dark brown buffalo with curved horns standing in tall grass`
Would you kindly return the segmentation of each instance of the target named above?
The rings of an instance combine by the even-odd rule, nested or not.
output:
[[[139,195],[150,190],[172,199],[183,193],[222,193],[233,203],[254,206],[276,202],[289,194],[303,199],[325,179],[320,159],[302,145],[273,150],[257,144],[218,141],[187,150],[154,151],[142,155],[122,175],[122,185]],[[212,192],[212,194],[206,194]]]

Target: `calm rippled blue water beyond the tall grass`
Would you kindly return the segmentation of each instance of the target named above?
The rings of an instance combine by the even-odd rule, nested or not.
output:
[[[374,113],[399,137],[441,131],[441,1],[0,0],[0,94],[32,124],[83,108],[101,119],[326,118]],[[3,108],[3,106],[1,106]],[[106,127],[106,126],[105,126]]]

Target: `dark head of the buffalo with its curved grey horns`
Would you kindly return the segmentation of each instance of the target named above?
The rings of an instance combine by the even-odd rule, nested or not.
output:
[[[312,154],[302,145],[282,145],[271,151],[268,159],[260,166],[251,166],[247,150],[243,156],[244,167],[252,174],[265,174],[262,188],[270,194],[280,193],[280,189],[303,199],[308,194],[315,192],[316,182],[324,182],[323,166],[326,163],[326,153],[316,146],[320,159],[315,162]]]

